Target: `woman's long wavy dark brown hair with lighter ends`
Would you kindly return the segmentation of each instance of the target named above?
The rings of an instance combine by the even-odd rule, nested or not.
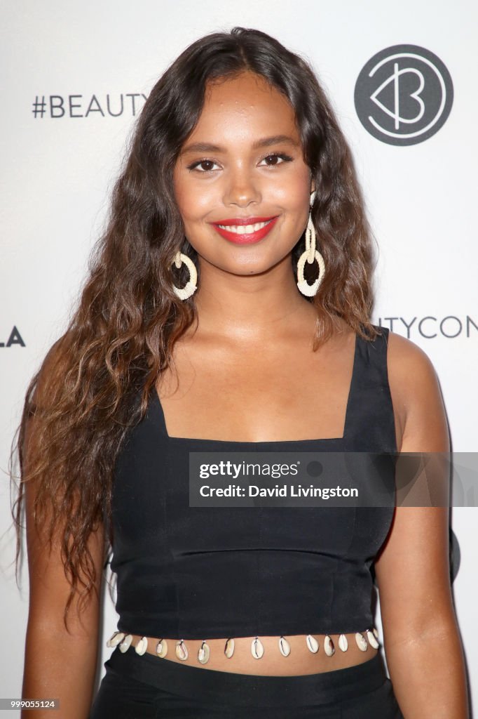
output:
[[[370,323],[372,234],[350,149],[311,65],[256,29],[234,27],[200,38],[161,75],[136,120],[78,308],[32,377],[16,432],[17,568],[24,487],[34,482],[34,525],[50,546],[60,543],[71,587],[65,626],[75,595],[85,600],[95,589],[88,538],[100,523],[108,528],[105,557],[113,545],[111,492],[123,439],[144,417],[161,372],[174,367],[174,343],[197,318],[194,296],[181,301],[172,289],[187,280],[184,267],[172,267],[178,249],[197,265],[174,198],[174,165],[200,118],[207,82],[244,71],[261,75],[289,99],[315,178],[311,213],[327,273],[309,298],[317,308],[314,350],[332,336],[337,318],[364,339],[378,334]],[[291,271],[304,249],[303,236]],[[32,417],[34,441],[25,462]]]

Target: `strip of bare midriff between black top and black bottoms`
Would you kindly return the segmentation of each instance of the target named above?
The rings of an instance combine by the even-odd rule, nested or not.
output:
[[[141,636],[138,634],[133,634],[132,636],[133,640],[128,651],[135,651],[136,644],[141,640]],[[315,654],[309,650],[304,634],[285,637],[291,648],[289,656],[283,656],[279,651],[278,636],[259,637],[264,648],[261,659],[256,659],[251,653],[251,644],[255,639],[253,636],[234,638],[234,653],[231,657],[225,656],[224,653],[227,638],[206,639],[207,646],[210,648],[210,658],[206,664],[201,664],[197,658],[197,653],[202,645],[201,639],[183,640],[187,646],[187,659],[179,659],[176,656],[176,645],[177,642],[181,641],[180,639],[166,637],[167,655],[161,657],[156,654],[159,638],[148,637],[146,652],[154,655],[158,661],[175,661],[177,664],[187,664],[190,667],[199,667],[200,669],[283,677],[333,672],[336,669],[353,667],[373,659],[379,651],[370,645],[367,646],[365,651],[359,649],[355,641],[355,633],[344,635],[347,637],[348,648],[347,651],[342,651],[338,646],[339,634],[329,634],[334,642],[335,651],[332,656],[327,656],[324,651],[324,635],[317,634],[313,636],[319,642],[319,651]]]

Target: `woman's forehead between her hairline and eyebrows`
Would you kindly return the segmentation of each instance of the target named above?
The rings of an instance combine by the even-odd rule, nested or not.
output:
[[[252,141],[257,134],[289,134],[299,139],[289,100],[254,73],[207,83],[202,113],[189,139],[204,139],[205,134],[224,142],[228,138]]]

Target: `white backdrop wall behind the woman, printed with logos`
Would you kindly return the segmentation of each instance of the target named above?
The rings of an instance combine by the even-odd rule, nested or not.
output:
[[[478,12],[471,0],[393,7],[381,0],[242,0],[239,9],[223,0],[17,0],[3,4],[1,17],[0,697],[19,697],[28,578],[24,567],[19,591],[6,470],[24,391],[78,298],[135,116],[159,75],[198,37],[255,27],[311,60],[352,147],[380,247],[372,320],[431,357],[453,449],[476,451]],[[354,93],[374,55],[406,44],[444,63],[454,99],[438,132],[402,146],[367,131]],[[476,508],[452,510],[454,597],[475,705],[477,518]],[[381,636],[380,613],[377,626]],[[114,628],[106,595],[99,676]]]

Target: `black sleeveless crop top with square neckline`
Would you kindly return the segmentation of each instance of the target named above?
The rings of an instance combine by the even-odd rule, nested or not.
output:
[[[189,507],[189,452],[397,451],[388,329],[356,336],[345,435],[232,442],[169,437],[154,390],[118,454],[113,558],[118,630],[184,639],[350,633],[372,626],[370,567],[388,507]],[[154,388],[153,388],[154,389]],[[362,469],[362,471],[364,471]]]

